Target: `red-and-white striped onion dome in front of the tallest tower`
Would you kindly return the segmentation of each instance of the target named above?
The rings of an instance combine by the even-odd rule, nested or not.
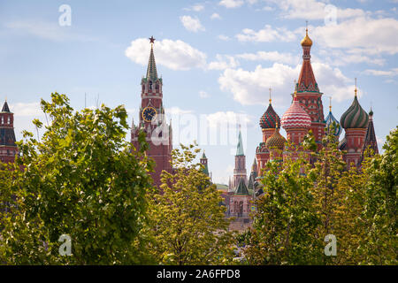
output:
[[[283,114],[282,127],[284,129],[292,128],[309,128],[311,126],[311,118],[308,113],[300,106],[297,96],[293,99],[293,103],[289,109]]]

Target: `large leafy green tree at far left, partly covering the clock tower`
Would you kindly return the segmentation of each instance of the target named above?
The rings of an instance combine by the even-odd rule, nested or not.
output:
[[[13,170],[0,171],[7,180],[1,187],[1,262],[141,264],[136,247],[153,168],[144,154],[145,135],[138,151],[126,142],[123,106],[73,111],[57,93],[41,105],[50,117],[41,141],[24,132]],[[34,125],[42,127],[38,120]],[[73,256],[59,256],[62,234],[72,238]]]

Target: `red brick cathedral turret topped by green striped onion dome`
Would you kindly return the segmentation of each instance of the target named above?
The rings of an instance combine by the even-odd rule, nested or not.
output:
[[[369,115],[359,104],[355,89],[354,101],[348,110],[341,115],[340,119],[340,124],[345,129],[346,134],[339,149],[347,151],[343,159],[348,166],[351,163],[356,166],[360,164],[368,122]]]

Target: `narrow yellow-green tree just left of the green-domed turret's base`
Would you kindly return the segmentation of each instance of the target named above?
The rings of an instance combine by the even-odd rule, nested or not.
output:
[[[332,125],[329,133],[334,133]],[[348,263],[347,257],[352,245],[352,229],[360,203],[355,198],[348,198],[354,194],[358,182],[358,172],[355,167],[346,172],[346,163],[342,160],[342,152],[338,149],[338,142],[333,134],[326,134],[322,149],[313,152],[316,162],[309,168],[308,176],[313,182],[311,194],[314,196],[318,217],[322,225],[318,226],[317,237],[325,239],[328,234],[333,234],[337,239],[338,253],[336,256],[324,256],[323,264]],[[352,182],[352,187],[341,186]],[[324,243],[325,245],[326,243]]]

